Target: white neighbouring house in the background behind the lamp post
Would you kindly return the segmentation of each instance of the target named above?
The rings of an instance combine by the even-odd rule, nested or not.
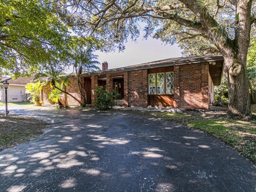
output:
[[[25,85],[32,81],[34,76],[32,77],[19,77],[17,79],[12,79],[10,77],[1,77],[0,76],[0,101],[5,101],[5,90],[3,81],[7,80],[9,83],[7,89],[7,101],[8,102],[21,102],[28,101],[28,95],[26,94]]]

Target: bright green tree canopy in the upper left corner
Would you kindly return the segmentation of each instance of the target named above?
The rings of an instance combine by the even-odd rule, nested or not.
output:
[[[70,33],[48,0],[0,0],[0,71],[26,75],[66,57]]]

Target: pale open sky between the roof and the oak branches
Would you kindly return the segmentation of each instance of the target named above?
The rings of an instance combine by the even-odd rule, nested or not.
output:
[[[125,44],[125,50],[123,52],[118,52],[118,50],[110,53],[96,51],[94,54],[99,56],[98,61],[100,63],[107,61],[109,69],[173,57],[182,57],[181,49],[178,45],[166,45],[160,40],[151,37],[145,40],[142,35],[137,39],[137,42],[129,39]]]

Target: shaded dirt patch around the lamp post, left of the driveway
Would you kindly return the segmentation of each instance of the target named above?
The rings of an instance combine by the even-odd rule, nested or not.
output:
[[[29,141],[42,134],[49,124],[25,115],[0,115],[0,150]]]

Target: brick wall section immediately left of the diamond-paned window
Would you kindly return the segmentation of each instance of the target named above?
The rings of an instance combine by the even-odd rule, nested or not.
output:
[[[147,69],[128,72],[128,105],[131,107],[147,107]]]

